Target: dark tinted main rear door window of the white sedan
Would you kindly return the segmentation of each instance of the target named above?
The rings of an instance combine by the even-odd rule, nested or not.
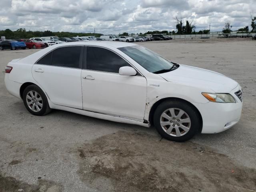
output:
[[[52,53],[52,65],[79,68],[81,46],[61,47]]]

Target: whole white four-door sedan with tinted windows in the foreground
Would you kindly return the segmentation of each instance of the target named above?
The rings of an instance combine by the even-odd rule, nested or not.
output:
[[[227,130],[242,111],[236,81],[125,42],[57,44],[12,60],[5,72],[8,92],[34,115],[58,109],[154,125],[162,137],[178,142],[197,132]]]

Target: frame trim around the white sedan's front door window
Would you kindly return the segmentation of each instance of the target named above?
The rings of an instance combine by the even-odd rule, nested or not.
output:
[[[116,55],[118,55],[118,56],[120,56],[123,60],[125,60],[129,65],[130,65],[130,67],[132,67],[132,68],[134,68],[136,71],[137,71],[137,74],[136,75],[134,75],[134,76],[142,76],[142,77],[144,77],[144,75],[138,70],[138,69],[136,69],[136,67],[134,67],[128,60],[126,60],[123,56],[121,56],[120,54],[118,54],[117,52],[115,52],[114,50],[111,50],[111,49],[109,49],[109,48],[106,48],[106,47],[102,47],[102,46],[94,46],[94,45],[86,45],[85,46],[85,48],[84,48],[84,54],[83,54],[83,60],[82,60],[82,70],[88,70],[88,71],[98,71],[98,70],[92,70],[92,69],[87,69],[87,47],[98,47],[98,48],[103,48],[103,49],[106,49],[106,50],[109,50],[109,51],[111,51],[111,52],[113,52],[114,54],[116,54]],[[85,64],[84,64],[84,58],[85,58]],[[84,68],[84,66],[85,66],[85,68]],[[98,72],[104,72],[104,73],[113,73],[113,74],[119,74],[119,73],[115,73],[115,72],[107,72],[107,71],[98,71]],[[140,75],[138,75],[138,74],[140,74]]]

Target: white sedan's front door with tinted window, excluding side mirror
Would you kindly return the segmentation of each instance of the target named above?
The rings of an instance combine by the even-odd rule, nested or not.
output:
[[[82,70],[83,109],[143,120],[146,106],[146,78],[119,75],[119,68],[131,66],[106,48],[85,47]]]

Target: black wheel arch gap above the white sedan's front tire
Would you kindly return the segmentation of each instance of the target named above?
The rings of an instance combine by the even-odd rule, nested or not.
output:
[[[150,108],[150,112],[149,112],[149,116],[148,116],[148,120],[150,122],[150,125],[154,125],[154,112],[156,110],[156,108],[162,103],[165,102],[167,100],[176,100],[176,101],[181,101],[181,102],[186,102],[188,105],[190,105],[192,108],[194,108],[194,110],[196,110],[196,112],[199,115],[199,119],[200,119],[200,127],[198,128],[198,132],[202,132],[202,128],[203,128],[203,119],[202,119],[202,115],[200,113],[200,111],[198,110],[198,108],[196,108],[196,106],[194,106],[191,102],[188,102],[187,100],[181,99],[181,98],[176,98],[176,97],[168,97],[168,98],[162,98],[160,100],[158,100],[157,102],[155,102],[153,104],[153,106]]]

